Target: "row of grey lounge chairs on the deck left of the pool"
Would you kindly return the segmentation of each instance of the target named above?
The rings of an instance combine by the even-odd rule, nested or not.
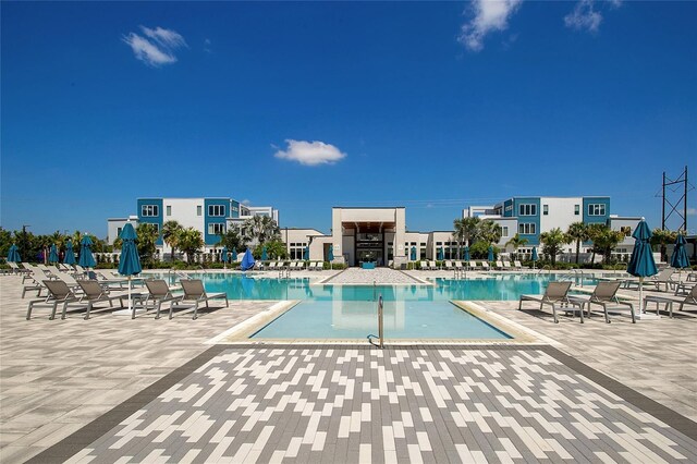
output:
[[[119,300],[121,307],[124,307],[124,300],[127,301],[129,293],[119,291],[113,292],[110,289],[102,286],[96,280],[81,280],[77,281],[77,286],[71,286],[68,282],[61,279],[48,279],[44,282],[45,288],[48,291],[48,295],[41,300],[34,300],[29,302],[26,319],[32,318],[32,312],[37,307],[49,307],[51,314],[49,319],[56,318],[58,307],[61,306],[61,319],[65,319],[69,306],[77,306],[76,309],[85,308],[84,319],[89,319],[93,307],[99,303],[109,303],[109,307],[113,307],[113,302]],[[156,309],[156,319],[160,318],[160,313],[163,303],[169,303],[169,318],[172,319],[175,307],[191,302],[193,305],[185,306],[188,308],[193,306],[193,319],[198,317],[198,308],[200,304],[208,306],[208,301],[213,298],[224,298],[225,307],[229,307],[228,295],[225,293],[207,293],[204,283],[196,279],[182,279],[180,280],[181,288],[170,288],[164,280],[147,280],[145,285],[147,293],[133,293],[132,298],[132,314],[131,318],[134,319],[137,309],[145,308],[147,310],[148,305],[151,303],[152,308]],[[181,293],[179,293],[181,292]]]

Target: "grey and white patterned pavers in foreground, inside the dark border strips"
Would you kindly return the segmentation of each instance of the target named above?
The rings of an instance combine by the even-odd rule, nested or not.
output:
[[[697,462],[541,349],[222,351],[69,462]]]

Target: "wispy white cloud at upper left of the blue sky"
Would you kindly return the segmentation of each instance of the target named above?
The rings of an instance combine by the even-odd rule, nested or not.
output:
[[[135,58],[150,66],[160,66],[176,62],[174,51],[181,47],[186,47],[186,41],[175,30],[156,27],[140,26],[143,36],[130,33],[123,37],[123,41],[131,46]]]

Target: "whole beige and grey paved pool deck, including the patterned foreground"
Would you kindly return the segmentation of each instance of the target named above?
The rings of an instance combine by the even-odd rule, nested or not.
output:
[[[474,302],[548,343],[211,345],[274,302],[27,321],[21,280],[0,278],[3,463],[697,460],[694,310],[555,325]]]

